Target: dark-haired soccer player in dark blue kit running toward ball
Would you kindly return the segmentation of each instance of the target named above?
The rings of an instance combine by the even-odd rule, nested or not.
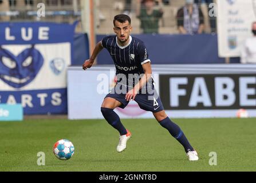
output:
[[[124,109],[129,101],[135,100],[141,109],[152,112],[159,124],[183,145],[188,160],[198,160],[198,154],[182,130],[170,120],[164,111],[162,102],[154,89],[151,61],[147,49],[140,39],[130,35],[131,18],[125,14],[116,15],[113,24],[116,35],[104,37],[97,43],[92,56],[84,62],[82,69],[90,68],[103,48],[109,51],[115,63],[117,83],[104,98],[101,113],[105,120],[120,133],[117,152],[125,150],[131,132],[124,127],[113,110],[117,107]]]

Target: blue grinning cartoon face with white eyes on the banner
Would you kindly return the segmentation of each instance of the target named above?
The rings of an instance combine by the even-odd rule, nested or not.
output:
[[[44,58],[34,45],[17,56],[0,47],[0,79],[12,87],[21,88],[33,81],[43,63]]]

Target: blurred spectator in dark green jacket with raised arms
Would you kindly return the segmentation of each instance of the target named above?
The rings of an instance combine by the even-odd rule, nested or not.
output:
[[[158,1],[159,9],[155,9],[154,0],[137,0],[136,15],[140,19],[140,27],[144,34],[158,33],[159,19],[163,17],[163,3]]]

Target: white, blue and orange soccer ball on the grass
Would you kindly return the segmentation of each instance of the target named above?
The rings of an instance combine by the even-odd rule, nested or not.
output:
[[[69,140],[61,139],[54,144],[53,153],[59,160],[69,160],[74,154],[74,145]]]

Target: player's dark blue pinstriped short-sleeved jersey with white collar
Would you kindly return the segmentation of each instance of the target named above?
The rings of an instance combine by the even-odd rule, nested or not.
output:
[[[120,46],[116,35],[111,35],[104,37],[101,43],[111,54],[116,66],[116,74],[124,74],[127,78],[128,74],[144,74],[142,65],[150,62],[150,59],[143,41],[130,35],[129,43]]]

